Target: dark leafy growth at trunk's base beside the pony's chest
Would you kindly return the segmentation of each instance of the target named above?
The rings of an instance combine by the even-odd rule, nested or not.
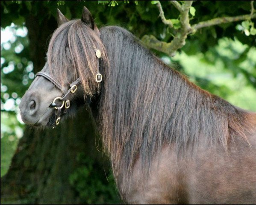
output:
[[[121,203],[113,175],[107,178],[106,173],[98,169],[99,165],[84,153],[77,154],[77,162],[78,168],[70,175],[69,182],[77,190],[83,203]]]

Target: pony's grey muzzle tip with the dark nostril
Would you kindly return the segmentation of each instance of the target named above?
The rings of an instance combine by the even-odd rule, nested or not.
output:
[[[21,119],[26,124],[34,124],[37,121],[36,112],[38,110],[39,100],[32,94],[25,94],[21,98],[19,105],[21,111]]]

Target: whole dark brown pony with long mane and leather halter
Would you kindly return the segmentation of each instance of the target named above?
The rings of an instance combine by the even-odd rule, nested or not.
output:
[[[192,84],[127,30],[99,31],[85,7],[78,20],[57,16],[21,100],[25,123],[56,126],[88,104],[127,203],[256,203],[255,113]]]

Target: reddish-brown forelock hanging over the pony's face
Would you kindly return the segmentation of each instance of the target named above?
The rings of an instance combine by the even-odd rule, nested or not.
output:
[[[53,33],[48,47],[47,60],[51,75],[62,86],[65,81],[71,83],[79,77],[85,94],[92,96],[95,90],[99,90],[99,84],[95,81],[99,68],[96,49],[101,51],[101,58],[107,67],[104,45],[92,29],[81,20],[70,20],[62,24]],[[68,80],[68,74],[73,75],[71,80]]]

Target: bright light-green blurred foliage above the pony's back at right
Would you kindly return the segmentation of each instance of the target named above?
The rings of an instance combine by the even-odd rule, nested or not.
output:
[[[256,111],[256,48],[221,38],[206,53],[181,52],[172,61],[201,88],[241,108]]]

